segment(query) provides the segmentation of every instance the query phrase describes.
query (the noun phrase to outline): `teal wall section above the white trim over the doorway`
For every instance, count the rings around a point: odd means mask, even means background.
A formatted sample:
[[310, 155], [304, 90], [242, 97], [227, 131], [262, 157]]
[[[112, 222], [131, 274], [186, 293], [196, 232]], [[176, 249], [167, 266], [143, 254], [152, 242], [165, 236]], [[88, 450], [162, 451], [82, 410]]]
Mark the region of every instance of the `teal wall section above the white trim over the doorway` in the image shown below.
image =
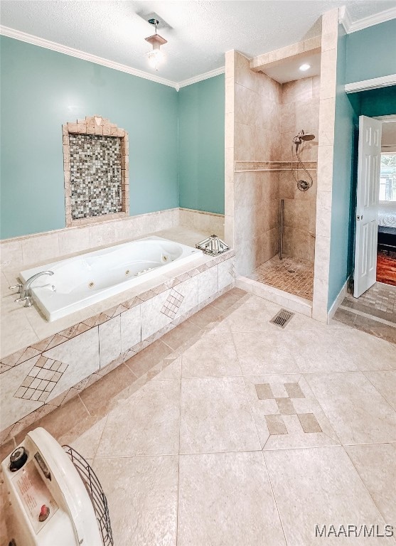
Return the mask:
[[396, 19], [348, 34], [346, 83], [396, 74]]

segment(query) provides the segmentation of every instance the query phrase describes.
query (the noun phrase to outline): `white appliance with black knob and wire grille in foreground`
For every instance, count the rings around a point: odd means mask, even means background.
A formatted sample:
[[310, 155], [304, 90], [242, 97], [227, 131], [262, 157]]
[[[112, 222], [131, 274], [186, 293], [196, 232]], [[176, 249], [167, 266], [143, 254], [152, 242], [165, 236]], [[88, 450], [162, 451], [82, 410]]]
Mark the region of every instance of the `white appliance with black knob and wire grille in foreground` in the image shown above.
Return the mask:
[[97, 476], [69, 446], [41, 427], [1, 463], [8, 493], [7, 543], [112, 546], [107, 501]]

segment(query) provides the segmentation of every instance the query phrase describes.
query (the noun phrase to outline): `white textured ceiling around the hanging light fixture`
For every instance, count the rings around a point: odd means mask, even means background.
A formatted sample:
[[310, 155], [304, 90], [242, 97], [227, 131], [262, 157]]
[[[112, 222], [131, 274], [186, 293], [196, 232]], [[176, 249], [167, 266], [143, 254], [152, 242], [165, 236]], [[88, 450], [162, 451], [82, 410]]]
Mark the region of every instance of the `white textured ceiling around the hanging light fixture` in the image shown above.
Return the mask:
[[[224, 53], [251, 58], [317, 32], [328, 9], [346, 5], [352, 21], [396, 6], [393, 0], [39, 1], [2, 0], [1, 24], [181, 82], [224, 65]], [[156, 13], [166, 62], [149, 68], [146, 19]]]

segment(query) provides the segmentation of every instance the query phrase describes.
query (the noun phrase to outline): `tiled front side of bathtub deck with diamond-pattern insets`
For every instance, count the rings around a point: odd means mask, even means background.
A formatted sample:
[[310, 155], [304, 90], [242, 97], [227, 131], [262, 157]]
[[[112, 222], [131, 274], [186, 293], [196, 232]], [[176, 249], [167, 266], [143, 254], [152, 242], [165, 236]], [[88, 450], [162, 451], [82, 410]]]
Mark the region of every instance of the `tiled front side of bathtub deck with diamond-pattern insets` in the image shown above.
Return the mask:
[[[36, 309], [18, 309], [33, 311], [31, 320], [36, 331], [41, 327], [41, 336], [1, 358], [3, 434], [13, 425], [26, 424], [26, 419], [35, 420], [46, 406], [51, 409], [68, 400], [232, 287], [232, 255], [229, 251], [199, 257], [116, 299], [90, 306], [84, 319], [67, 328], [63, 319], [46, 323]], [[77, 316], [82, 315], [70, 315], [70, 321]]]

